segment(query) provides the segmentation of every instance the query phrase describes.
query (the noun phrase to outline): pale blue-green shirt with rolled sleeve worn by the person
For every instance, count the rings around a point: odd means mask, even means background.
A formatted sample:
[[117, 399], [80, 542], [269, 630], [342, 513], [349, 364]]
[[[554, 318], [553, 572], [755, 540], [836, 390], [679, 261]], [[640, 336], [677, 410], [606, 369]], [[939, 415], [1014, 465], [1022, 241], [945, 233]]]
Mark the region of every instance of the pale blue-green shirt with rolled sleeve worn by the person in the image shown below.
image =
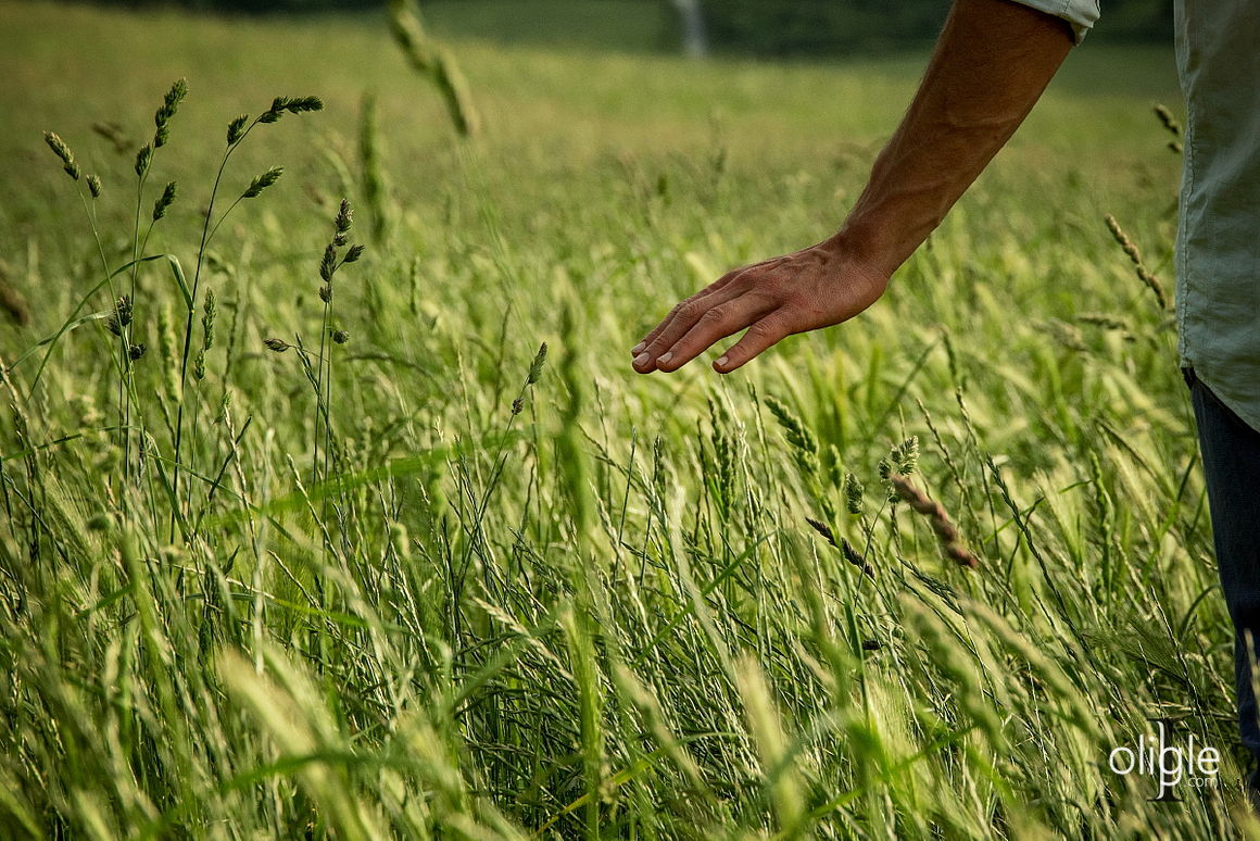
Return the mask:
[[[1097, 0], [1016, 0], [1076, 42]], [[1178, 357], [1260, 430], [1260, 4], [1176, 0], [1186, 142], [1177, 224]]]

